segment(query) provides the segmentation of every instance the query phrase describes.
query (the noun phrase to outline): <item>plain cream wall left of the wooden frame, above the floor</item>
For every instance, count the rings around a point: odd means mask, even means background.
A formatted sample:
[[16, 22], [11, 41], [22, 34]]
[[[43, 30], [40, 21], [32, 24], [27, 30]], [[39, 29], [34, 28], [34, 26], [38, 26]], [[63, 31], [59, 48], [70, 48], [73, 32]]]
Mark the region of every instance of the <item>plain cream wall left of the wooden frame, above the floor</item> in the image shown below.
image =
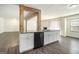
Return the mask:
[[19, 31], [19, 20], [16, 18], [0, 18], [0, 33]]

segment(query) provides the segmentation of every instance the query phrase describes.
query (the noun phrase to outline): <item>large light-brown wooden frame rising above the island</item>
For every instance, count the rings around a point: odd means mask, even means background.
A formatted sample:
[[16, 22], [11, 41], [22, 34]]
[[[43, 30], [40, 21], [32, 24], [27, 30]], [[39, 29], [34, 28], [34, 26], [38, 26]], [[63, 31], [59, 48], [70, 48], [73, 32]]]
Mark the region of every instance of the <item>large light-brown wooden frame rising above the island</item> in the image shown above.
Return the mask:
[[[27, 7], [24, 5], [19, 5], [19, 30], [20, 32], [24, 32], [24, 11], [30, 11], [34, 12], [34, 16], [37, 16], [37, 31], [41, 31], [41, 10], [32, 8], [32, 7]], [[27, 20], [26, 20], [27, 22]], [[27, 24], [26, 24], [26, 32], [27, 32]]]

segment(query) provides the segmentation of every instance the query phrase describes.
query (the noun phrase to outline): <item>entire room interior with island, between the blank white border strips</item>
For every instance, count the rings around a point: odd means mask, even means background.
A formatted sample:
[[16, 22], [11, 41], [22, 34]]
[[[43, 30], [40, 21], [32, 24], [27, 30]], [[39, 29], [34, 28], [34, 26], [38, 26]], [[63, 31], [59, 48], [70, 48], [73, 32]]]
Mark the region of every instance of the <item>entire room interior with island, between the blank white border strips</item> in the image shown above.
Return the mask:
[[0, 5], [0, 54], [78, 54], [78, 4]]

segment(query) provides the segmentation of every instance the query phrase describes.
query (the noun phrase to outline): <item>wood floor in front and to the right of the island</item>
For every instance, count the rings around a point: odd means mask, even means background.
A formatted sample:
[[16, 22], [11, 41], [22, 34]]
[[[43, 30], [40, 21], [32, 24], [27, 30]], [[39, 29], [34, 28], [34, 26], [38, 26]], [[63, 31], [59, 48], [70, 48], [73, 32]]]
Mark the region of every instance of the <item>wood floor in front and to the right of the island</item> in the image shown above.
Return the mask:
[[79, 54], [79, 39], [60, 37], [59, 42], [34, 49], [25, 54]]

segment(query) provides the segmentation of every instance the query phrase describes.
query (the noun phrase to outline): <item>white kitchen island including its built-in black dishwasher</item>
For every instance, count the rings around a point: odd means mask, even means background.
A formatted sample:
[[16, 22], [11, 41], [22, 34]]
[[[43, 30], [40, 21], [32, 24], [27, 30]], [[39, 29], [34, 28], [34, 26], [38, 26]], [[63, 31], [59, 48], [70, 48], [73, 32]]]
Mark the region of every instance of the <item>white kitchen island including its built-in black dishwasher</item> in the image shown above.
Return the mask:
[[23, 53], [58, 41], [59, 31], [25, 32], [20, 33], [19, 37], [19, 50], [20, 53]]

